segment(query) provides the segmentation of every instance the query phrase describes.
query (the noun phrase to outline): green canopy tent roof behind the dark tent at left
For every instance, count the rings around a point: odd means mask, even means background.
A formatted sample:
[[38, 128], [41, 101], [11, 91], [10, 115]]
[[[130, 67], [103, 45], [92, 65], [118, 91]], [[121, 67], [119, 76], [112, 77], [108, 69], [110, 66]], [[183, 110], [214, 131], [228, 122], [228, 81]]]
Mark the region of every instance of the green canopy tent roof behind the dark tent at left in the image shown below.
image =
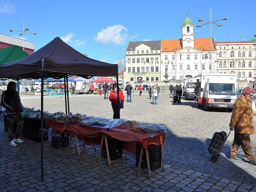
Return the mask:
[[28, 53], [17, 45], [0, 49], [0, 64], [9, 63], [27, 57]]

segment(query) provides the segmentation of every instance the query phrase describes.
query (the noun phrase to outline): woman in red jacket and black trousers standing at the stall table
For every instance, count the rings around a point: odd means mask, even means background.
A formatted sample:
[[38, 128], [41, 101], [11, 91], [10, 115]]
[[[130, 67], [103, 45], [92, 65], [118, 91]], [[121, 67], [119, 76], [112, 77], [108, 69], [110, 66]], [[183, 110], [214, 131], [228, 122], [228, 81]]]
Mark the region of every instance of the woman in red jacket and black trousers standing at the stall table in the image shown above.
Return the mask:
[[[114, 112], [113, 119], [118, 119], [118, 104], [120, 105], [122, 102], [124, 102], [124, 93], [119, 89], [119, 101], [117, 101], [117, 84], [115, 83], [112, 87], [112, 91], [109, 94], [109, 98], [111, 101], [112, 109]], [[120, 108], [119, 108], [120, 112]]]

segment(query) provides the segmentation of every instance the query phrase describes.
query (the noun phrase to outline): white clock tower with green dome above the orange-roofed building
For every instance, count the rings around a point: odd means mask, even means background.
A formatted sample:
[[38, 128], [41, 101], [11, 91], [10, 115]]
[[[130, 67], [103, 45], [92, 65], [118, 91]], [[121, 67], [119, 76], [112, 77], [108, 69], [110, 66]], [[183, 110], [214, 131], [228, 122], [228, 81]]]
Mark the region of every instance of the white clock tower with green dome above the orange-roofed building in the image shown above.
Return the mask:
[[188, 17], [185, 18], [185, 20], [182, 23], [181, 29], [182, 29], [182, 48], [185, 47], [192, 47], [194, 48], [194, 33], [193, 33], [194, 25], [191, 21], [191, 19]]

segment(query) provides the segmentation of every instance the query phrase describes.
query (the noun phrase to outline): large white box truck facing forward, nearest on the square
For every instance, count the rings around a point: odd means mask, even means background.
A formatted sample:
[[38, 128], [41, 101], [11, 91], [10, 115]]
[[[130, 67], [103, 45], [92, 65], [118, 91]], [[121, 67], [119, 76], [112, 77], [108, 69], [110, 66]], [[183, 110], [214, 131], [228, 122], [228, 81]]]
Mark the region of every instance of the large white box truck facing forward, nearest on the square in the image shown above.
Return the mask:
[[196, 100], [198, 106], [227, 108], [232, 111], [236, 102], [236, 74], [200, 73], [197, 75]]

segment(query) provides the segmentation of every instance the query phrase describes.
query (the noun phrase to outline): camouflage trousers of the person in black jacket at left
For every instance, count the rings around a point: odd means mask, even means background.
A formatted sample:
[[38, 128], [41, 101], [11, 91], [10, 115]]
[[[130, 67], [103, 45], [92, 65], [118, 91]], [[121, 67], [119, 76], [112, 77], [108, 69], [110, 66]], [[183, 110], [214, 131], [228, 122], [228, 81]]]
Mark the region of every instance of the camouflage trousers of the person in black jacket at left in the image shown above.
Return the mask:
[[14, 134], [14, 138], [18, 139], [20, 132], [22, 131], [23, 127], [24, 127], [24, 120], [23, 117], [20, 114], [8, 114], [7, 115], [7, 122], [8, 122], [8, 137], [9, 137], [9, 141], [13, 140], [13, 133], [12, 133], [12, 129], [13, 129], [13, 125], [16, 123], [17, 124], [17, 128], [16, 128], [16, 132]]

